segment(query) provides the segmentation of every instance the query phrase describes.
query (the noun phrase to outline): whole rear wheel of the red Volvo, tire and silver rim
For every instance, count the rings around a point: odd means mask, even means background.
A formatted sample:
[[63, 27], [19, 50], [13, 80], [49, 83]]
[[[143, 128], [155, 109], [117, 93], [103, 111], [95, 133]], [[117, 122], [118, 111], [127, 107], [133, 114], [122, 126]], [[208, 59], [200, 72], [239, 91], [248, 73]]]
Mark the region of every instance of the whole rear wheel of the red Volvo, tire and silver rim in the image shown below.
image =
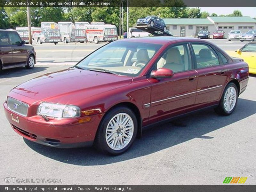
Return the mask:
[[236, 84], [229, 83], [220, 99], [220, 104], [215, 108], [215, 112], [219, 115], [230, 115], [236, 108], [238, 98], [238, 90]]

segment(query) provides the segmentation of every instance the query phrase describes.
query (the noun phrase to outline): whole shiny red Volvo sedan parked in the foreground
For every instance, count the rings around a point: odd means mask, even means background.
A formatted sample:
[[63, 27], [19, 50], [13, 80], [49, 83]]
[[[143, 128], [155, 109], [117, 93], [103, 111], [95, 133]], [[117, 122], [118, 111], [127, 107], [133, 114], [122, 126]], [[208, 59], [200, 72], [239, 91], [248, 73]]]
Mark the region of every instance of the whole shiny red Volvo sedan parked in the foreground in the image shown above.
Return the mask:
[[247, 82], [247, 63], [208, 41], [132, 38], [18, 85], [4, 109], [13, 130], [28, 140], [94, 145], [117, 155], [157, 122], [205, 107], [230, 115]]

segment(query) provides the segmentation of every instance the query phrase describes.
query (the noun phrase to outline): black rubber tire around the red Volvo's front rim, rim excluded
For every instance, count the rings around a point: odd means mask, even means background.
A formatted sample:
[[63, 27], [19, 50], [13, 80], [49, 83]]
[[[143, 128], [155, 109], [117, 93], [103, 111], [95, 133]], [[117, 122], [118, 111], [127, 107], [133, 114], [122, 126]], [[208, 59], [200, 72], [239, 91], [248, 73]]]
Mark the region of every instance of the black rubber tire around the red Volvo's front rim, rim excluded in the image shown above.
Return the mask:
[[[132, 137], [131, 137], [131, 140], [129, 141], [129, 143], [124, 148], [115, 150], [108, 146], [108, 143], [106, 141], [106, 130], [107, 130], [107, 126], [108, 126], [110, 120], [115, 115], [117, 115], [119, 113], [126, 113], [132, 118], [134, 129], [133, 129], [133, 134], [132, 134]], [[113, 108], [103, 117], [102, 121], [100, 122], [98, 132], [97, 132], [95, 142], [94, 142], [94, 147], [96, 147], [100, 151], [107, 153], [107, 154], [120, 155], [120, 154], [124, 153], [128, 148], [131, 147], [133, 141], [136, 138], [137, 130], [138, 130], [137, 118], [130, 108], [127, 108], [127, 107]]]

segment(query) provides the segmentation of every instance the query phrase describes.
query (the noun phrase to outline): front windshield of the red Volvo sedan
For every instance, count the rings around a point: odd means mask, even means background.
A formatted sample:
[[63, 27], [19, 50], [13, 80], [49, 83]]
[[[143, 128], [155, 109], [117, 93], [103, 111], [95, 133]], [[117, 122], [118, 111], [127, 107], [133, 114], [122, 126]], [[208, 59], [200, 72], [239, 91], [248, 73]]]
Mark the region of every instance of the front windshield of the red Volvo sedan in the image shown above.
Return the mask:
[[93, 52], [76, 67], [137, 76], [161, 46], [137, 42], [113, 42]]

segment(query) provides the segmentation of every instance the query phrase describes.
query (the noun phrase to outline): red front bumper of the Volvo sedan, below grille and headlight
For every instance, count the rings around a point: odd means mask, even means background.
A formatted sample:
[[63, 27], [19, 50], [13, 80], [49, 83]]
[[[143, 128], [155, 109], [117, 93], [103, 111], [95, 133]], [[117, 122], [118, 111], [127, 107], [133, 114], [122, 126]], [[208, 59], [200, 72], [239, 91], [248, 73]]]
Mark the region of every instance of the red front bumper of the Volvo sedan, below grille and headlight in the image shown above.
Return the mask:
[[36, 143], [57, 148], [91, 146], [103, 116], [98, 114], [79, 118], [50, 119], [47, 122], [40, 116], [24, 117], [15, 114], [7, 108], [6, 102], [4, 110], [16, 133]]

